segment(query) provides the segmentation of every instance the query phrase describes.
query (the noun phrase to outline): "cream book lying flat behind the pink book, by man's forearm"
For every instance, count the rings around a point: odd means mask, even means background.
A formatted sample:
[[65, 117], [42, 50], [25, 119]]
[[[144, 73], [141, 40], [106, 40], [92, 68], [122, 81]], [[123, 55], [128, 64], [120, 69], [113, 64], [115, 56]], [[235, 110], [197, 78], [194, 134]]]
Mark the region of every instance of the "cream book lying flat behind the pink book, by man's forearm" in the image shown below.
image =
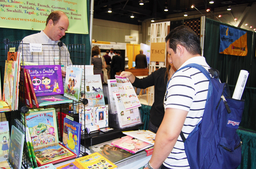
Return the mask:
[[123, 131], [123, 133], [149, 144], [155, 143], [156, 134], [148, 130]]

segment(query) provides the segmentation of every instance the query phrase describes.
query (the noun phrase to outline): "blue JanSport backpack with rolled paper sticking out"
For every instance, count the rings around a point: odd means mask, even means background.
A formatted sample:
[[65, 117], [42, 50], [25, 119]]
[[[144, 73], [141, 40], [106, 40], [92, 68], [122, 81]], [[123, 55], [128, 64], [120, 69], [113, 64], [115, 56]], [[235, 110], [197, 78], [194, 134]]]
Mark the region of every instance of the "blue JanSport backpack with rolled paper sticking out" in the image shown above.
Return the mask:
[[[191, 169], [235, 169], [241, 163], [241, 140], [236, 134], [244, 110], [244, 100], [230, 98], [227, 83], [220, 83], [218, 70], [188, 64], [209, 80], [202, 120], [186, 139], [181, 131]], [[180, 69], [180, 70], [181, 70]]]

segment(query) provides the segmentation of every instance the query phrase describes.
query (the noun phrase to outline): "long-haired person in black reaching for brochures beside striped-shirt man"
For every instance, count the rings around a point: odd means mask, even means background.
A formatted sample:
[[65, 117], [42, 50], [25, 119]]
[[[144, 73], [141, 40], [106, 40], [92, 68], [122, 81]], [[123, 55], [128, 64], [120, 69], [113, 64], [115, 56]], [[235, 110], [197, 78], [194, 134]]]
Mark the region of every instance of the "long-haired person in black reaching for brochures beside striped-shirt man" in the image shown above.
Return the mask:
[[164, 94], [166, 91], [166, 85], [168, 80], [172, 77], [176, 71], [168, 57], [168, 65], [165, 68], [160, 68], [152, 72], [147, 77], [139, 79], [135, 77], [131, 72], [123, 71], [120, 76], [128, 77], [133, 86], [142, 89], [146, 89], [150, 86], [155, 86], [154, 103], [150, 109], [150, 120], [148, 124], [148, 130], [156, 133], [161, 122], [164, 118]]

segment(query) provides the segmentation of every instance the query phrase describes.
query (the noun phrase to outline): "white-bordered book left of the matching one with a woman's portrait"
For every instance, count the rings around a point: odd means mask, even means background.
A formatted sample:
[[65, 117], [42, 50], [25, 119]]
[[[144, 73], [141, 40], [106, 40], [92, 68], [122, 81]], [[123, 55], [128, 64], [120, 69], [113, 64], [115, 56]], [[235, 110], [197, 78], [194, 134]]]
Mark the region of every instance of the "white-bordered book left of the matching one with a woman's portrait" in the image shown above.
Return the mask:
[[83, 132], [86, 127], [94, 125], [93, 107], [79, 109], [79, 123], [82, 124]]

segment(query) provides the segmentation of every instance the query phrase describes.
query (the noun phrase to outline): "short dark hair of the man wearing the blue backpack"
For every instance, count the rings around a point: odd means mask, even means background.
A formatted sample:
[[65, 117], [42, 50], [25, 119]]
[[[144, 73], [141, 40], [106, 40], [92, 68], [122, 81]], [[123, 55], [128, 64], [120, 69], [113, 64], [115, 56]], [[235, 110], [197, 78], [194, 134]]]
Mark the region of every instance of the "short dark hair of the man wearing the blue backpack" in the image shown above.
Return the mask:
[[165, 42], [169, 40], [169, 48], [176, 53], [177, 45], [185, 47], [189, 54], [201, 55], [201, 43], [198, 35], [188, 26], [178, 26], [166, 36]]

